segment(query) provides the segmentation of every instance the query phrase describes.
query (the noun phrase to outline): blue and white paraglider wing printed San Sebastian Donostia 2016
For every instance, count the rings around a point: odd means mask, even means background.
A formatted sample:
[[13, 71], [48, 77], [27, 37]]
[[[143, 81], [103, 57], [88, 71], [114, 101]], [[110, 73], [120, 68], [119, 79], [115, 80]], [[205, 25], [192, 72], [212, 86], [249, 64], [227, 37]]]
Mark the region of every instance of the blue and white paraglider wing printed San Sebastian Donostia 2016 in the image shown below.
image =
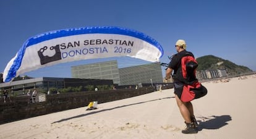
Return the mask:
[[62, 62], [129, 56], [158, 62], [161, 45], [141, 32], [121, 27], [85, 27], [36, 35], [23, 44], [4, 70], [4, 82], [31, 70]]

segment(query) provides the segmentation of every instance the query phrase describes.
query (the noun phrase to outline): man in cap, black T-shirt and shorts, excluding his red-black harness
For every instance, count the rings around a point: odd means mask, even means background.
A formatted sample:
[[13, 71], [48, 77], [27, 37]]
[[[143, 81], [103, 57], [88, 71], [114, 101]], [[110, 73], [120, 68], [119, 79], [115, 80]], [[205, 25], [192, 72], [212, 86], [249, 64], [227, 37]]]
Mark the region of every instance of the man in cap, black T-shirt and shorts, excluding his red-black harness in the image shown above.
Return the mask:
[[197, 133], [198, 124], [197, 120], [195, 120], [193, 105], [190, 101], [181, 101], [181, 94], [184, 86], [184, 82], [182, 82], [181, 59], [183, 56], [185, 56], [185, 54], [190, 54], [190, 56], [194, 57], [192, 53], [186, 51], [186, 46], [186, 41], [177, 40], [175, 45], [177, 54], [174, 54], [171, 62], [169, 62], [168, 69], [166, 69], [165, 80], [171, 78], [171, 74], [174, 71], [174, 94], [179, 111], [181, 112], [181, 115], [185, 120], [185, 124], [187, 125], [187, 128], [182, 130], [182, 133]]

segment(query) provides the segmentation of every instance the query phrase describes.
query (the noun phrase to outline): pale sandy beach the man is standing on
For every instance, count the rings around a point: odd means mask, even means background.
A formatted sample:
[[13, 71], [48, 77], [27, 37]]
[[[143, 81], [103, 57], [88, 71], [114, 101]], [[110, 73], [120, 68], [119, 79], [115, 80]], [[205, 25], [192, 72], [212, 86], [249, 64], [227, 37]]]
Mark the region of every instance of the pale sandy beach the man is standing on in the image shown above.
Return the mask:
[[2, 124], [0, 138], [255, 138], [255, 76], [203, 85], [207, 96], [192, 101], [197, 134], [181, 133], [184, 120], [169, 89]]

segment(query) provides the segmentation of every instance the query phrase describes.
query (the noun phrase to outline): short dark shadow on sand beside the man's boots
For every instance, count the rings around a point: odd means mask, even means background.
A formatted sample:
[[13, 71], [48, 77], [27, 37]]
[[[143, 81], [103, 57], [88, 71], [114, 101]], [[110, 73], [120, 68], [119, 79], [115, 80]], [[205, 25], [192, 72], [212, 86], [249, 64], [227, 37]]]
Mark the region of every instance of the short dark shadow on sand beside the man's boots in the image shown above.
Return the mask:
[[[199, 120], [201, 119], [201, 120]], [[203, 129], [218, 129], [228, 125], [228, 121], [232, 120], [231, 116], [210, 116], [210, 117], [197, 117], [197, 122], [199, 122], [198, 130]]]

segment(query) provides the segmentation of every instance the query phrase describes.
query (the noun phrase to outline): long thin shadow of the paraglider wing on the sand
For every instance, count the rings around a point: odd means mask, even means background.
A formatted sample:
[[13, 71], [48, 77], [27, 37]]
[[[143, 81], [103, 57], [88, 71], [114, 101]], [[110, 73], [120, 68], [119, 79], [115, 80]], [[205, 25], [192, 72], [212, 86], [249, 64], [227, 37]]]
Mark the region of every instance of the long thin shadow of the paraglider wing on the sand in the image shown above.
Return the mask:
[[121, 108], [121, 107], [127, 107], [127, 106], [136, 105], [136, 104], [148, 103], [148, 102], [151, 102], [151, 101], [158, 101], [158, 100], [161, 100], [161, 99], [169, 99], [169, 98], [175, 98], [175, 97], [153, 99], [153, 100], [150, 100], [150, 101], [143, 101], [143, 102], [140, 102], [140, 103], [127, 104], [127, 105], [123, 105], [123, 106], [112, 107], [112, 108], [109, 108], [109, 109], [102, 109], [100, 111], [93, 111], [93, 112], [89, 112], [87, 114], [80, 114], [79, 116], [74, 116], [74, 117], [69, 117], [69, 118], [66, 118], [66, 119], [61, 119], [61, 120], [58, 120], [58, 121], [53, 122], [51, 124], [58, 123], [58, 122], [63, 122], [63, 121], [66, 121], [66, 120], [75, 119], [75, 118], [79, 118], [79, 117], [83, 117], [83, 116], [89, 116], [91, 114], [96, 114], [96, 113], [99, 113], [99, 112], [110, 111], [110, 110], [118, 109], [118, 108]]

